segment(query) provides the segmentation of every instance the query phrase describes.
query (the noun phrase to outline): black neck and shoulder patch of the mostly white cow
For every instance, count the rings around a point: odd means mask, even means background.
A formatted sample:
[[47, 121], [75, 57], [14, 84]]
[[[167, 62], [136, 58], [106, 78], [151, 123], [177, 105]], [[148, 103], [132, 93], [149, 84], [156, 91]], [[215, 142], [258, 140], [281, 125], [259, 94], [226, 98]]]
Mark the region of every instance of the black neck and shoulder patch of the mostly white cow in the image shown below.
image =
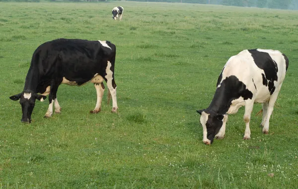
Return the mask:
[[232, 100], [238, 99], [240, 96], [244, 100], [252, 99], [252, 92], [246, 89], [246, 85], [239, 81], [236, 76], [226, 77], [221, 86], [215, 91], [214, 97], [207, 110], [213, 110], [218, 114], [224, 115], [230, 107]]

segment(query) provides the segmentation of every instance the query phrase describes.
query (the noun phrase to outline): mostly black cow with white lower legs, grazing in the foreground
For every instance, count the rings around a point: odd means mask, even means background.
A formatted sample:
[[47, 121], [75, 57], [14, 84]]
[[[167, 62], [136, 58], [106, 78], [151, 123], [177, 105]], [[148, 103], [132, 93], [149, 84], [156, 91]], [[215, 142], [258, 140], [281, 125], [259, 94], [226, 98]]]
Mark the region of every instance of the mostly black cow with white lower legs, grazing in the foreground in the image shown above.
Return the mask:
[[60, 84], [81, 86], [87, 82], [93, 83], [97, 102], [90, 113], [97, 113], [101, 108], [104, 92], [102, 82], [105, 80], [113, 100], [112, 112], [117, 112], [115, 56], [116, 47], [108, 41], [57, 39], [37, 47], [32, 55], [23, 92], [10, 96], [12, 100], [20, 99], [23, 113], [21, 122], [31, 122], [35, 100], [43, 101], [48, 94], [50, 105], [45, 117], [52, 116], [53, 103], [55, 112], [60, 113], [56, 96]]

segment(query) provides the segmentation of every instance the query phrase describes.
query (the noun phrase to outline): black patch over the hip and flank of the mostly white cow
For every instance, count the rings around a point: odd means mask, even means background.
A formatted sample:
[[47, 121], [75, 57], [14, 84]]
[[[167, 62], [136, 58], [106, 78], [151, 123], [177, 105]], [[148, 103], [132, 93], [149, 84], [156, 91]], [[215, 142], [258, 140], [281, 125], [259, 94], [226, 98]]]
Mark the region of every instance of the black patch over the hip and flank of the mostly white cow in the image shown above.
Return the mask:
[[[270, 94], [273, 94], [275, 91], [274, 81], [277, 81], [278, 79], [277, 63], [272, 59], [268, 52], [260, 52], [257, 49], [250, 49], [248, 51], [249, 53], [251, 53], [251, 56], [253, 57], [255, 64], [260, 69], [264, 70], [265, 76], [262, 74], [263, 85], [268, 86]], [[268, 80], [268, 83], [264, 80]]]

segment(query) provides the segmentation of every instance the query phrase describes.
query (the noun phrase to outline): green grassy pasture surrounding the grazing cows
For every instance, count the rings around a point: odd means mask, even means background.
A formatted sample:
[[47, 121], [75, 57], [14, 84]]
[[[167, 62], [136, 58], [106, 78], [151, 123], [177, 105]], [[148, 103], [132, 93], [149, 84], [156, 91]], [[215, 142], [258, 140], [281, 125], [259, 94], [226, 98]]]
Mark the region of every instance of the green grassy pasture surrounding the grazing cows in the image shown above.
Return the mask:
[[[122, 21], [112, 8], [123, 6]], [[181, 3], [0, 2], [0, 189], [298, 186], [298, 11]], [[117, 47], [119, 113], [92, 84], [61, 85], [61, 114], [31, 124], [9, 96], [23, 90], [33, 51], [57, 38], [109, 40]], [[243, 49], [278, 49], [290, 65], [263, 135], [255, 104], [251, 140], [243, 108], [224, 140], [202, 142], [207, 108], [227, 59]], [[270, 177], [268, 174], [273, 173]], [[272, 176], [272, 175], [271, 175]]]

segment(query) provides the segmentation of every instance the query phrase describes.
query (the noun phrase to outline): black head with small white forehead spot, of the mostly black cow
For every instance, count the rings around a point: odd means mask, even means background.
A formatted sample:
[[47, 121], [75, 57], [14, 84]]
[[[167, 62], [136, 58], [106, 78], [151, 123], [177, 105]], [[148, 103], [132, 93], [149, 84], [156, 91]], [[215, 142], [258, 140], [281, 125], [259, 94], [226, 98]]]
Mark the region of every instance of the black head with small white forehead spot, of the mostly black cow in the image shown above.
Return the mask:
[[33, 108], [35, 106], [35, 100], [38, 99], [43, 101], [47, 96], [36, 94], [33, 91], [25, 90], [20, 94], [15, 94], [10, 96], [9, 98], [12, 100], [20, 99], [20, 104], [22, 106], [22, 119], [23, 123], [31, 123], [31, 114], [33, 112]]

